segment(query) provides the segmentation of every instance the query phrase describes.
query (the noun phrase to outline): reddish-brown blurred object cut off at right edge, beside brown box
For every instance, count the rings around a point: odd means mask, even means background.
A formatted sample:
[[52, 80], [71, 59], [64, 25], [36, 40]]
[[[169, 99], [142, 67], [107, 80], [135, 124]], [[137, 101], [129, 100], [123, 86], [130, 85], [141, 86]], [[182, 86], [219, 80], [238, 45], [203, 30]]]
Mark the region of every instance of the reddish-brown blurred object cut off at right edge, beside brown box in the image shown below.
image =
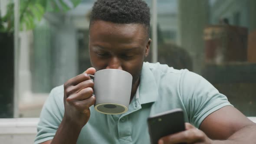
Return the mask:
[[248, 62], [256, 62], [256, 30], [249, 34], [247, 57]]

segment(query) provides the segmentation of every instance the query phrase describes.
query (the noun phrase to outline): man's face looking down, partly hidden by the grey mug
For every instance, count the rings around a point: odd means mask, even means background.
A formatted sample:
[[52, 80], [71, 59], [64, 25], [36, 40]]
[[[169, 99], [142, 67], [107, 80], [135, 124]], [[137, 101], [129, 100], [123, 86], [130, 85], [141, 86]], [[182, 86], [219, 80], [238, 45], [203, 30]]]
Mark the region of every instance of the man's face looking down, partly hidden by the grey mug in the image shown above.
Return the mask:
[[95, 21], [90, 27], [89, 53], [92, 66], [121, 69], [138, 82], [144, 57], [148, 56], [151, 39], [141, 24], [117, 24]]

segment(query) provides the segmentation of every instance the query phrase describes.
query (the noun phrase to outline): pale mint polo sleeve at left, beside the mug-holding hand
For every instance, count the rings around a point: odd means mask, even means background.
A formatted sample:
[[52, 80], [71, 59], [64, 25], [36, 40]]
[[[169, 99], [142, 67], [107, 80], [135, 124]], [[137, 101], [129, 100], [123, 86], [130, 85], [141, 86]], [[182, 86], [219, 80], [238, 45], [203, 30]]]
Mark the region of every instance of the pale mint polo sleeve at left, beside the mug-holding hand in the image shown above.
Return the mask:
[[43, 105], [34, 144], [52, 140], [64, 114], [63, 85], [53, 88]]

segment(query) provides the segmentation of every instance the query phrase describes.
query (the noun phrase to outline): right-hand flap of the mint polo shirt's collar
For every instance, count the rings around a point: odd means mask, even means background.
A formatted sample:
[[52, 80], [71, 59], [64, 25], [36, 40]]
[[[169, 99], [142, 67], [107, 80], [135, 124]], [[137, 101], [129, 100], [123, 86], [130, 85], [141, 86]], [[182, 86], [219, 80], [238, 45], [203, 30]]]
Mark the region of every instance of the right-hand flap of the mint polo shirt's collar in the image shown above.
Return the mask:
[[158, 97], [158, 88], [148, 62], [144, 62], [139, 85], [139, 100], [141, 104], [154, 102]]

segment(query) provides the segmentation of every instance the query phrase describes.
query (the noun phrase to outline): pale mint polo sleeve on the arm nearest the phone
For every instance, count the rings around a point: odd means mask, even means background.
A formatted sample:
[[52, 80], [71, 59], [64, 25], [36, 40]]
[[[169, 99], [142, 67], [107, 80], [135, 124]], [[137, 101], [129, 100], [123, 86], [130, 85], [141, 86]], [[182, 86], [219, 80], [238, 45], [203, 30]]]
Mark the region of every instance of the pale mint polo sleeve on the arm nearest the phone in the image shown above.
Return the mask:
[[224, 106], [231, 105], [226, 96], [214, 88], [210, 82], [188, 70], [182, 72], [180, 94], [189, 122], [197, 128], [208, 115]]

